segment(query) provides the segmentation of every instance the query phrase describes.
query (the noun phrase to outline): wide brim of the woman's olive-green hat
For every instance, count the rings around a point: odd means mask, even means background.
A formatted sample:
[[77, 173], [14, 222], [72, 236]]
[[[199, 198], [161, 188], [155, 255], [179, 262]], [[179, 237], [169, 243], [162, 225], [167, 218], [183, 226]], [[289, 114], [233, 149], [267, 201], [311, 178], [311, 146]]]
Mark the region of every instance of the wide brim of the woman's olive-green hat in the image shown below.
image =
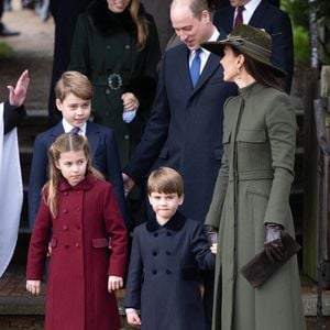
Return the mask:
[[202, 43], [200, 46], [220, 57], [223, 57], [223, 55], [224, 55], [223, 50], [224, 50], [226, 45], [233, 46], [233, 47], [238, 48], [240, 52], [242, 52], [242, 54], [248, 55], [252, 59], [268, 66], [271, 69], [273, 69], [273, 72], [276, 76], [278, 76], [278, 77], [287, 76], [287, 73], [285, 70], [275, 66], [273, 63], [271, 63], [271, 61], [267, 61], [264, 57], [260, 57], [255, 53], [249, 52], [249, 48], [242, 46], [241, 43], [238, 43], [237, 41], [233, 41], [231, 38], [223, 38], [223, 40], [216, 41], [216, 42], [206, 42], [206, 43]]

